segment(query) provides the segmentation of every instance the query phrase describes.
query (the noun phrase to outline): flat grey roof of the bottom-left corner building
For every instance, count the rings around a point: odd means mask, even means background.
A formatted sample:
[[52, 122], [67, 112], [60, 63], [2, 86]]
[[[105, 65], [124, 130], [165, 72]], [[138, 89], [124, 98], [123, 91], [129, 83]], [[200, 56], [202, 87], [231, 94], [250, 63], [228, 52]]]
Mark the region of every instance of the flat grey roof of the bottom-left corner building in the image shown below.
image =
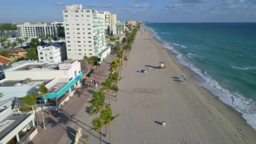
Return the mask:
[[0, 139], [3, 139], [8, 133], [16, 128], [21, 122], [29, 117], [29, 113], [15, 113], [6, 117], [0, 122]]

